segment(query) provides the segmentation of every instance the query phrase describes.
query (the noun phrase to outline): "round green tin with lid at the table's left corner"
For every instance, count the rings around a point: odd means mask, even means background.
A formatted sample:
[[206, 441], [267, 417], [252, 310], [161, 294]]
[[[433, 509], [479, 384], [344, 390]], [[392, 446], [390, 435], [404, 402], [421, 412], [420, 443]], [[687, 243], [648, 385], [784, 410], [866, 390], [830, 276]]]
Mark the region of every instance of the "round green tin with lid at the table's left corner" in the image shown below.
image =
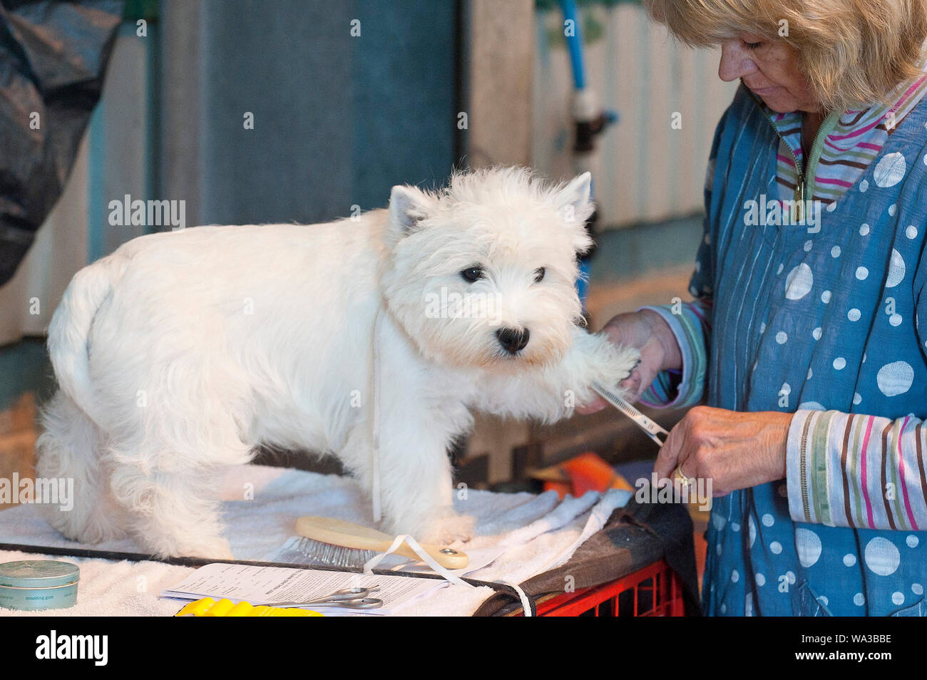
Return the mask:
[[0, 607], [11, 610], [60, 610], [77, 602], [81, 570], [55, 560], [0, 563]]

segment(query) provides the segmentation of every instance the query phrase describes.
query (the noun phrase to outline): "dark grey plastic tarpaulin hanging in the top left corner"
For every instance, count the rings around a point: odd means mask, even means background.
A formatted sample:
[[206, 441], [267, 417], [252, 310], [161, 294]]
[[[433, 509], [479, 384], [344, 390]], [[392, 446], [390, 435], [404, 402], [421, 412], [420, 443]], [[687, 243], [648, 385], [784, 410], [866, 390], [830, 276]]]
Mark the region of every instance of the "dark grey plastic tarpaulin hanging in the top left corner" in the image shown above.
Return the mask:
[[64, 189], [122, 0], [0, 0], [0, 285]]

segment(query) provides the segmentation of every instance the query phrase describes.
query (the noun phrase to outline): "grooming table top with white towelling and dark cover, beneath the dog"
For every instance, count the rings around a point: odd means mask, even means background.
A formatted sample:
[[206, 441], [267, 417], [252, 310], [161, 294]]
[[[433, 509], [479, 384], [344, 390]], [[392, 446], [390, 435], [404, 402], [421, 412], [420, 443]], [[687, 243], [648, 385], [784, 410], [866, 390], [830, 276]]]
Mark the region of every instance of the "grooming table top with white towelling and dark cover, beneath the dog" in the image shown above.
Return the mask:
[[[321, 515], [370, 524], [369, 502], [348, 477], [262, 465], [228, 469], [222, 476], [226, 535], [237, 560], [269, 560], [293, 533], [301, 515]], [[248, 498], [248, 499], [246, 499]], [[627, 502], [629, 501], [629, 502]], [[694, 590], [692, 523], [677, 505], [640, 506], [629, 492], [590, 492], [561, 500], [553, 492], [495, 494], [468, 490], [455, 508], [476, 518], [476, 535], [463, 546], [471, 551], [504, 542], [502, 555], [468, 579], [520, 584], [533, 599], [561, 594], [567, 586], [580, 594], [593, 586], [666, 559], [681, 576], [690, 604]], [[93, 549], [138, 555], [132, 539], [83, 545], [68, 541], [42, 519], [38, 508], [23, 505], [0, 511], [0, 541], [64, 550]], [[688, 539], [688, 540], [687, 540]], [[56, 550], [57, 551], [57, 550]], [[143, 560], [103, 560], [0, 549], [0, 561], [69, 560], [81, 567], [78, 603], [69, 610], [0, 615], [170, 616], [177, 601], [159, 599], [193, 567]], [[692, 564], [687, 564], [687, 556]], [[567, 581], [567, 577], [571, 581]], [[507, 592], [506, 592], [507, 591]], [[511, 589], [449, 586], [415, 600], [397, 615], [493, 615], [520, 611]]]

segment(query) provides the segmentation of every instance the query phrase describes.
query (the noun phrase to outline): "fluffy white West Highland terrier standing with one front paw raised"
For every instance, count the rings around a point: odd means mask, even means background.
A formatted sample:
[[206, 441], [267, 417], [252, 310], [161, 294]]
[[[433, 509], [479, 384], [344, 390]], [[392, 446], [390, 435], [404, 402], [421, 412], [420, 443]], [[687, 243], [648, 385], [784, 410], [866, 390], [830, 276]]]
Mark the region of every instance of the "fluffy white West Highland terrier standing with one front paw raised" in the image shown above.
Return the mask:
[[470, 410], [552, 422], [638, 358], [577, 325], [592, 208], [588, 173], [551, 187], [496, 168], [327, 224], [121, 246], [74, 276], [49, 328], [60, 389], [38, 472], [75, 480], [50, 521], [230, 558], [217, 469], [268, 445], [337, 456], [378, 488], [389, 532], [464, 534], [448, 447]]

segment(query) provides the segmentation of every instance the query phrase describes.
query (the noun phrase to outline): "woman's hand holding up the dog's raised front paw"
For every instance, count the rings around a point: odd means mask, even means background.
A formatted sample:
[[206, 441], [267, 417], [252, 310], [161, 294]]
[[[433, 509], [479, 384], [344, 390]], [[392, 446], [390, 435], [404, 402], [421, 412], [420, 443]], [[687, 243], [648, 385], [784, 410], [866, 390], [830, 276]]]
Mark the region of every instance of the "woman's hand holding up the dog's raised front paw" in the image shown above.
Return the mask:
[[[652, 309], [618, 314], [605, 324], [602, 332], [608, 334], [615, 345], [641, 350], [641, 363], [618, 384], [619, 387], [630, 390], [628, 400], [631, 402], [641, 398], [641, 394], [654, 382], [658, 372], [682, 368], [682, 354], [679, 352], [679, 343], [676, 342], [672, 329], [663, 317]], [[596, 397], [589, 404], [577, 407], [577, 410], [580, 413], [594, 413], [605, 406], [605, 400]]]

